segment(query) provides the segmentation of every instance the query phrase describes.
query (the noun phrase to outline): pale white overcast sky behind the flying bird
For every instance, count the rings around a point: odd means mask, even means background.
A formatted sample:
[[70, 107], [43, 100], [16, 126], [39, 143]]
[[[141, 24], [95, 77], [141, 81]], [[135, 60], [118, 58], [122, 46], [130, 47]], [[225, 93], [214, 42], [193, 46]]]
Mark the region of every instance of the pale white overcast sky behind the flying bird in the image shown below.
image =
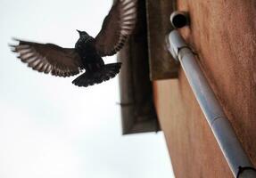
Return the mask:
[[[95, 36], [111, 0], [0, 1], [0, 177], [170, 178], [163, 134], [121, 135], [118, 77], [78, 88], [15, 58], [20, 37], [65, 47]], [[115, 61], [115, 56], [104, 59]]]

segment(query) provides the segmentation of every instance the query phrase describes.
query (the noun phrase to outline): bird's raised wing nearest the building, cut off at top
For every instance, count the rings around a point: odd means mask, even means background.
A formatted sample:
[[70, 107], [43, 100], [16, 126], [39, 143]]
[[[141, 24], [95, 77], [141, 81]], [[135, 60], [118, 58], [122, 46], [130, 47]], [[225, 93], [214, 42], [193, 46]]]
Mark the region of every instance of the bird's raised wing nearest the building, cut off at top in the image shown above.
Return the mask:
[[136, 25], [136, 0], [115, 0], [103, 20], [103, 27], [95, 37], [95, 46], [101, 56], [120, 51]]

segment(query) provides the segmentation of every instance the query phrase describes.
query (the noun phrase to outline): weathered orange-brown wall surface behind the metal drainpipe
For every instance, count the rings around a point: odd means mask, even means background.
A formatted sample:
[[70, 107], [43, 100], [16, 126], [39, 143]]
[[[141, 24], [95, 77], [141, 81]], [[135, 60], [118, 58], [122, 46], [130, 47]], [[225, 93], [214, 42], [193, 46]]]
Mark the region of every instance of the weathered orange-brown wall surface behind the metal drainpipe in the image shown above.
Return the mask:
[[[178, 0], [178, 10], [190, 13], [182, 35], [256, 166], [256, 2]], [[233, 177], [183, 71], [154, 82], [154, 94], [176, 176]]]

